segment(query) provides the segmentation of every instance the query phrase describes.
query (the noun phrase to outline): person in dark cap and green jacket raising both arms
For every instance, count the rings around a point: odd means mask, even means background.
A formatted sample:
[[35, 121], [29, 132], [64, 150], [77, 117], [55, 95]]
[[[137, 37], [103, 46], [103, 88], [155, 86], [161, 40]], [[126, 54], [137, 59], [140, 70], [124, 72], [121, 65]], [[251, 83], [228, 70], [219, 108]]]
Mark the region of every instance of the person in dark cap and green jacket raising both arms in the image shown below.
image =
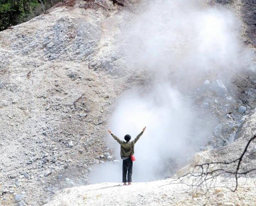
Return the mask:
[[122, 141], [117, 136], [113, 135], [111, 130], [108, 130], [111, 136], [120, 144], [120, 155], [121, 159], [123, 160], [123, 185], [126, 185], [127, 182], [128, 185], [132, 184], [132, 168], [133, 161], [135, 161], [135, 158], [133, 156], [134, 144], [139, 140], [140, 136], [142, 136], [145, 129], [146, 127], [143, 128], [142, 132], [140, 132], [139, 135], [133, 141], [130, 141], [130, 135], [124, 136], [125, 141]]

